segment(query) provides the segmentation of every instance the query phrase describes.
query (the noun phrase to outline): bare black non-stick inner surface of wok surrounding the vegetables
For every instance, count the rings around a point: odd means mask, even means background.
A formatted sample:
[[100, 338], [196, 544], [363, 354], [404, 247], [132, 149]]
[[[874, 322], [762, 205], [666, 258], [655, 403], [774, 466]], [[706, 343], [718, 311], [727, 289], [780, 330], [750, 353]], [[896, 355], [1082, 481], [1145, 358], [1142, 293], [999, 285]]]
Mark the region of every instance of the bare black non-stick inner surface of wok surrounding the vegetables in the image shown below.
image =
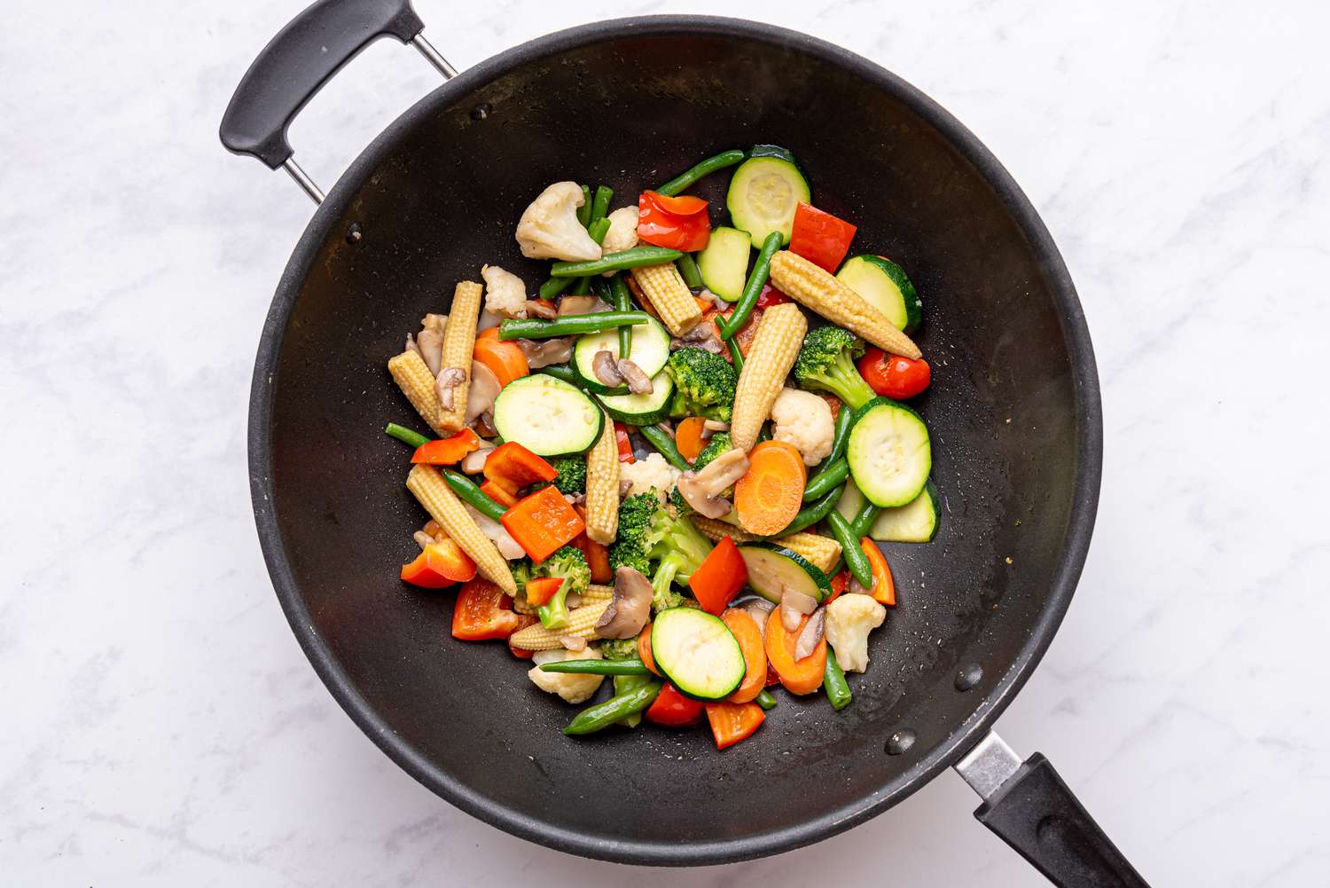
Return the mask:
[[[563, 847], [682, 860], [688, 843], [770, 839], [818, 819], [817, 832], [833, 831], [916, 781], [928, 754], [1023, 662], [1047, 603], [1079, 459], [1056, 272], [1040, 266], [983, 173], [884, 89], [884, 75], [871, 81], [845, 67], [847, 55], [721, 33], [555, 49], [492, 67], [499, 76], [473, 92], [467, 79], [483, 72], [463, 75], [452, 88], [467, 95], [410, 112], [363, 184], [364, 169], [343, 182], [358, 190], [313, 245], [303, 282], [291, 280], [270, 507], [289, 587], [310, 615], [297, 631], [314, 650], [327, 646], [382, 720], [376, 742], [528, 836], [539, 821], [571, 831]], [[382, 429], [422, 422], [384, 362], [422, 314], [448, 310], [456, 281], [479, 280], [481, 264], [517, 272], [528, 288], [544, 280], [548, 266], [521, 258], [513, 228], [549, 182], [612, 185], [620, 206], [700, 157], [754, 142], [791, 149], [817, 205], [859, 226], [855, 250], [891, 257], [922, 294], [916, 339], [934, 382], [918, 406], [932, 434], [942, 533], [927, 546], [887, 546], [898, 604], [872, 635], [867, 674], [851, 676], [843, 712], [821, 695], [779, 694], [758, 734], [724, 754], [705, 728], [568, 739], [560, 728], [573, 710], [536, 690], [501, 642], [450, 636], [452, 592], [396, 579], [426, 515], [403, 486], [408, 450]], [[720, 210], [728, 181], [713, 176], [697, 193]], [[303, 262], [299, 250], [293, 261]], [[972, 664], [983, 678], [958, 691], [958, 668]], [[898, 731], [918, 739], [887, 755]], [[531, 820], [515, 827], [523, 815]], [[592, 844], [569, 844], [573, 833]]]

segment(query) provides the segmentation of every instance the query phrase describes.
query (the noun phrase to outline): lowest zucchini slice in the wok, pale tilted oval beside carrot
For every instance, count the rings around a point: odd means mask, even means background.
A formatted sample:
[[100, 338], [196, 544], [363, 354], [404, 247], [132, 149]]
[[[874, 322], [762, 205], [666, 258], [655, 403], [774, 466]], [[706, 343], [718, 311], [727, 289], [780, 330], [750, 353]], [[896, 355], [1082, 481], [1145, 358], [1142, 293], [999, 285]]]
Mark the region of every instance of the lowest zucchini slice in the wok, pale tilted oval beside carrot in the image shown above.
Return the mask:
[[743, 682], [743, 650], [721, 618], [696, 607], [670, 607], [652, 622], [652, 658], [697, 700], [724, 700]]

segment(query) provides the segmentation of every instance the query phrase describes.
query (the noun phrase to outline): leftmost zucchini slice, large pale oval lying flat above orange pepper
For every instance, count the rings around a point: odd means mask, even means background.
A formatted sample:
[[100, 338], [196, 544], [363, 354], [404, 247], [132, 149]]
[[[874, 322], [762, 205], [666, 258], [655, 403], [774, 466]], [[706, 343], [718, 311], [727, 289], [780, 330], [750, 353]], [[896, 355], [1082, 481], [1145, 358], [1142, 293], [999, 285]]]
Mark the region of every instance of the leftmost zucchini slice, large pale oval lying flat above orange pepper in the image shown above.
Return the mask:
[[544, 373], [513, 379], [495, 398], [495, 430], [540, 457], [591, 450], [605, 414], [576, 386]]

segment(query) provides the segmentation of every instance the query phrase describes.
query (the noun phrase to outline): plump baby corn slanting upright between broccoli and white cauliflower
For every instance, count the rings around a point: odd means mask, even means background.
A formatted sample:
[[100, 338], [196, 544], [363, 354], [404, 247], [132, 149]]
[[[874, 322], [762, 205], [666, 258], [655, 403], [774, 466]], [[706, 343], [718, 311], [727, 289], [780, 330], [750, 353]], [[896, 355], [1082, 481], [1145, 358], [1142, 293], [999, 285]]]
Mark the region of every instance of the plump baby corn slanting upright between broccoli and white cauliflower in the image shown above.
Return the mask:
[[730, 419], [730, 443], [743, 453], [757, 443], [762, 423], [785, 386], [785, 377], [794, 366], [807, 330], [809, 322], [793, 302], [773, 305], [758, 320], [753, 345], [734, 390], [734, 415]]

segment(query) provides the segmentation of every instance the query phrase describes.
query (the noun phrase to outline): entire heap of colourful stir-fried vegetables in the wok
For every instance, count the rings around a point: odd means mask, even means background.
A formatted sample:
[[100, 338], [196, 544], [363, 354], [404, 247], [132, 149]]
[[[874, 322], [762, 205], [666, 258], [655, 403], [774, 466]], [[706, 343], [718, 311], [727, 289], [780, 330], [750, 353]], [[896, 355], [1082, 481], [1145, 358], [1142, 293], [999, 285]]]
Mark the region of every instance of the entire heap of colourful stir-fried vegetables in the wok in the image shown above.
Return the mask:
[[[686, 193], [730, 169], [725, 206]], [[532, 687], [608, 688], [564, 734], [705, 723], [724, 750], [769, 687], [851, 704], [896, 600], [878, 542], [938, 533], [902, 403], [931, 382], [923, 306], [891, 260], [846, 258], [857, 226], [783, 148], [613, 202], [545, 188], [515, 236], [552, 262], [476, 269], [388, 359], [435, 434], [386, 429], [430, 515], [399, 575], [456, 587], [454, 638], [505, 639]]]

